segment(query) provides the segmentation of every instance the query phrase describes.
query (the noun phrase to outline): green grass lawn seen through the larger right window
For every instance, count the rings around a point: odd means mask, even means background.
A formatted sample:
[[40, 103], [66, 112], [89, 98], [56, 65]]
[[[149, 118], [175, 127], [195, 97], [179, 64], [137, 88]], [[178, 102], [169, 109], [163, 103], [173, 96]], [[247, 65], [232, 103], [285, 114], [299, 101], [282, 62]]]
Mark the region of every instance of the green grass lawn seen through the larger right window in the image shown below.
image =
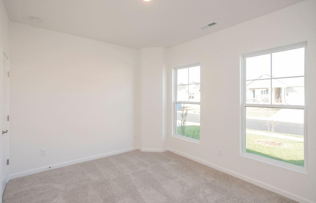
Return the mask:
[[246, 152], [304, 167], [304, 142], [247, 134]]

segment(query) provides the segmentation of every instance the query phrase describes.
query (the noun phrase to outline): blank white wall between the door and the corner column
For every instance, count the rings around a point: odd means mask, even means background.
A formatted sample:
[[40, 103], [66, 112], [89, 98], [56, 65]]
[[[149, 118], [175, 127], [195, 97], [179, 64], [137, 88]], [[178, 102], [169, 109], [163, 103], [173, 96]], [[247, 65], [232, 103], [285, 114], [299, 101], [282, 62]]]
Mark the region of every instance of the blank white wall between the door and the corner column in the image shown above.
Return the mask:
[[10, 37], [11, 177], [136, 146], [136, 49], [14, 22]]

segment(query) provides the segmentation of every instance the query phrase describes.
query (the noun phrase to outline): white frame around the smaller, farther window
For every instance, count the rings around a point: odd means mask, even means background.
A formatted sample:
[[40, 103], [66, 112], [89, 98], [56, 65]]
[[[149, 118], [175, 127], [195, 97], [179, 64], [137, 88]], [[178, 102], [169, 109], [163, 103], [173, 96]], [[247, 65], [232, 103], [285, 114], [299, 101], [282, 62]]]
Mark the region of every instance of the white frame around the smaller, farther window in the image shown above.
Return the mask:
[[[178, 135], [176, 134], [176, 128], [177, 128], [177, 104], [178, 103], [185, 103], [185, 104], [198, 104], [201, 106], [200, 102], [184, 102], [184, 101], [178, 101], [177, 98], [178, 98], [178, 90], [177, 90], [177, 87], [178, 87], [178, 81], [177, 81], [177, 70], [179, 69], [184, 69], [184, 68], [192, 68], [192, 67], [197, 67], [199, 66], [200, 70], [201, 70], [201, 66], [200, 66], [200, 63], [195, 63], [195, 64], [190, 64], [190, 65], [186, 65], [186, 66], [180, 66], [180, 67], [176, 67], [176, 68], [172, 68], [173, 69], [173, 91], [172, 91], [172, 98], [173, 98], [173, 102], [172, 102], [172, 112], [173, 112], [173, 115], [172, 115], [172, 136], [173, 137], [176, 137], [176, 138], [179, 138], [179, 139], [183, 139], [183, 140], [187, 140], [187, 141], [190, 141], [190, 142], [193, 142], [193, 143], [197, 143], [199, 144], [200, 143], [200, 139], [194, 139], [194, 138], [191, 138], [191, 137], [186, 137], [186, 136], [183, 136], [183, 135]], [[188, 73], [189, 75], [189, 73]], [[199, 85], [201, 84], [201, 82], [199, 83]], [[189, 85], [189, 84], [188, 84]], [[188, 100], [189, 100], [189, 92], [188, 92]]]

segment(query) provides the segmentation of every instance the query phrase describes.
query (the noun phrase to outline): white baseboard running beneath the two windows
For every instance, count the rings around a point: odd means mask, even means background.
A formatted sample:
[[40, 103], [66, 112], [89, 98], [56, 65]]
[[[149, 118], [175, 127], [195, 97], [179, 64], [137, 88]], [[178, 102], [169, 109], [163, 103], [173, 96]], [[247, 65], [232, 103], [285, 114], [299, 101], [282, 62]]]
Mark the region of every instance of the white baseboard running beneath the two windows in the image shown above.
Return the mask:
[[203, 164], [203, 165], [205, 165], [205, 166], [208, 166], [208, 167], [210, 167], [210, 168], [217, 169], [217, 170], [222, 171], [222, 172], [224, 172], [224, 173], [230, 174], [230, 175], [235, 176], [235, 177], [237, 177], [237, 178], [239, 178], [239, 179], [241, 179], [241, 180], [244, 180], [244, 181], [246, 181], [246, 182], [252, 183], [252, 184], [257, 185], [257, 186], [259, 186], [259, 187], [265, 188], [265, 189], [267, 189], [267, 190], [270, 190], [270, 191], [272, 191], [272, 192], [275, 192], [275, 193], [277, 193], [277, 194], [279, 194], [279, 195], [282, 195], [282, 196], [287, 197], [287, 198], [289, 198], [289, 199], [295, 200], [295, 201], [297, 201], [297, 202], [300, 202], [300, 203], [315, 203], [315, 202], [313, 202], [312, 200], [308, 200], [308, 199], [306, 199], [306, 198], [297, 196], [297, 195], [295, 195], [295, 194], [293, 194], [293, 193], [290, 193], [290, 192], [288, 192], [288, 191], [282, 190], [282, 189], [277, 188], [277, 187], [275, 187], [275, 186], [272, 186], [272, 185], [269, 185], [269, 184], [267, 184], [267, 183], [261, 182], [261, 181], [259, 181], [259, 180], [250, 178], [250, 177], [248, 177], [248, 176], [246, 176], [246, 175], [242, 175], [242, 174], [240, 174], [240, 173], [234, 172], [234, 171], [232, 171], [232, 170], [225, 169], [225, 168], [222, 168], [222, 167], [220, 167], [220, 166], [211, 164], [211, 163], [209, 163], [209, 162], [203, 161], [203, 160], [198, 159], [198, 158], [196, 158], [196, 157], [193, 157], [193, 156], [191, 156], [191, 155], [188, 155], [188, 154], [185, 154], [185, 153], [182, 153], [182, 152], [179, 152], [179, 151], [177, 151], [177, 150], [170, 149], [170, 148], [167, 148], [167, 150], [170, 151], [170, 152], [173, 152], [173, 153], [175, 153], [175, 154], [178, 154], [178, 155], [180, 155], [180, 156], [183, 156], [183, 157], [186, 157], [186, 158], [188, 158], [188, 159], [191, 159], [191, 160], [193, 160], [193, 161], [196, 161], [196, 162], [198, 162], [198, 163], [200, 163], [200, 164]]

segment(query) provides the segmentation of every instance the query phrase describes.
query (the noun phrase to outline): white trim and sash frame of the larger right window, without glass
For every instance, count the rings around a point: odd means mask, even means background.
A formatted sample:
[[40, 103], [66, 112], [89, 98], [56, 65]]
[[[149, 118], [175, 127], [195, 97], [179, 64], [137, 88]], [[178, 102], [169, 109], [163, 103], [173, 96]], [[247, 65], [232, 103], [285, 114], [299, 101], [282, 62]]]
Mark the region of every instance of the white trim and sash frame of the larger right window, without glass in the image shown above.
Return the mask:
[[[264, 54], [271, 54], [275, 52], [287, 51], [296, 48], [305, 47], [305, 63], [304, 63], [304, 105], [284, 105], [284, 104], [252, 104], [246, 103], [246, 58], [260, 56]], [[308, 157], [307, 157], [307, 42], [296, 43], [288, 46], [277, 47], [259, 52], [252, 52], [240, 56], [240, 156], [250, 158], [256, 161], [268, 163], [277, 167], [294, 170], [297, 172], [307, 174]], [[295, 76], [294, 76], [295, 77]], [[272, 92], [272, 91], [271, 91]], [[269, 94], [272, 94], [269, 92]], [[262, 157], [245, 152], [246, 139], [245, 139], [245, 107], [276, 107], [276, 108], [291, 108], [304, 110], [304, 167], [295, 166], [285, 162], [277, 161], [274, 159]]]

